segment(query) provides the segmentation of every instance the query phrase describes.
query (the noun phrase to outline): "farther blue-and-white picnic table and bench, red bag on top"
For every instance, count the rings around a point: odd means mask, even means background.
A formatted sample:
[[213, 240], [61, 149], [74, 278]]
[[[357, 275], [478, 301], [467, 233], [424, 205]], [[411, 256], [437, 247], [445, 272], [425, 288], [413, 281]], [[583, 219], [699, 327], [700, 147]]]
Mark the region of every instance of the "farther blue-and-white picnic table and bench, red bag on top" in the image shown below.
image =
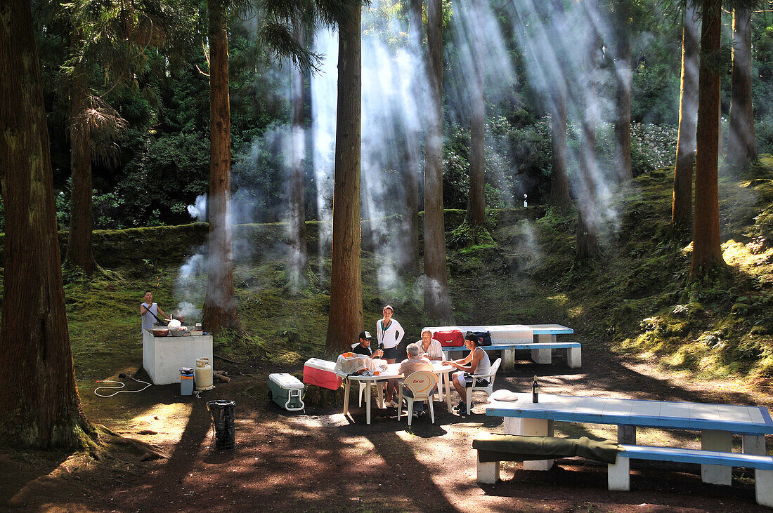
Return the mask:
[[[502, 351], [502, 367], [513, 370], [516, 362], [516, 349], [529, 349], [535, 363], [552, 363], [553, 349], [567, 350], [567, 364], [572, 369], [582, 366], [582, 349], [577, 342], [557, 342], [558, 335], [571, 335], [574, 329], [560, 324], [509, 324], [492, 326], [434, 326], [424, 329], [435, 331], [450, 331], [458, 329], [466, 332], [491, 333], [491, 346], [482, 346], [486, 351]], [[424, 330], [422, 330], [424, 331]], [[451, 353], [466, 351], [461, 347], [444, 347], [443, 352], [447, 359]]]

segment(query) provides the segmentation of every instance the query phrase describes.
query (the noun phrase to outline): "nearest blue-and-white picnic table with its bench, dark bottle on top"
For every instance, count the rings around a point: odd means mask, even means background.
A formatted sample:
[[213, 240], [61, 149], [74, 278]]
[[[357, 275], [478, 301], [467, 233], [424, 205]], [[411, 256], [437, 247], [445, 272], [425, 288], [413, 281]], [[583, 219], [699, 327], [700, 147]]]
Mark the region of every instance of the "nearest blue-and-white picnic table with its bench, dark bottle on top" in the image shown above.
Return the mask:
[[[531, 393], [512, 393], [512, 397], [516, 400], [492, 400], [485, 409], [486, 415], [504, 417], [506, 434], [553, 437], [555, 420], [617, 424], [618, 441], [625, 452], [618, 453], [617, 462], [609, 465], [611, 490], [629, 489], [631, 459], [700, 464], [703, 482], [727, 485], [732, 467], [751, 467], [758, 502], [773, 506], [773, 457], [765, 455], [764, 440], [764, 435], [773, 434], [773, 420], [765, 407], [543, 393], [538, 403], [532, 402]], [[636, 445], [636, 427], [700, 431], [701, 448]], [[630, 440], [623, 440], [624, 434]], [[743, 454], [732, 452], [733, 434], [742, 436]], [[553, 460], [548, 459], [523, 462], [526, 470], [548, 470], [552, 465]]]

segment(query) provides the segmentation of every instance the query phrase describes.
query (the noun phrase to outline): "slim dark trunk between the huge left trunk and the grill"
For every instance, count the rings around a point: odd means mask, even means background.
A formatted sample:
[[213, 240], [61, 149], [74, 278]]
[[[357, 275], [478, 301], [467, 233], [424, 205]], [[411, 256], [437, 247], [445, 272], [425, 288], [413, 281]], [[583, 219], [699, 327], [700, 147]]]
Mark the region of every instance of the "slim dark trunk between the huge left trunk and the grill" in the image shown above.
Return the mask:
[[[79, 46], [77, 35], [73, 35], [70, 47], [75, 49]], [[91, 276], [96, 263], [91, 244], [91, 130], [85, 116], [88, 94], [88, 74], [83, 69], [77, 69], [70, 83], [70, 167], [73, 182], [65, 260]]]

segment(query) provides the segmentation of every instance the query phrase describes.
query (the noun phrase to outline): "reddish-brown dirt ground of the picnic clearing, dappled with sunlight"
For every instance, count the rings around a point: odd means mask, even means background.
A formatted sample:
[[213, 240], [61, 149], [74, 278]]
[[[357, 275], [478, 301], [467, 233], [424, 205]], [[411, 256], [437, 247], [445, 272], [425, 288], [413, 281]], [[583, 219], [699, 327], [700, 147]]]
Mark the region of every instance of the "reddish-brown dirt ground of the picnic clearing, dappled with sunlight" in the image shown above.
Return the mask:
[[[581, 340], [582, 342], [582, 340]], [[585, 341], [584, 366], [570, 370], [563, 356], [551, 366], [520, 361], [495, 388], [526, 390], [540, 376], [543, 393], [769, 403], [768, 388], [743, 383], [693, 383], [659, 373], [649, 362], [621, 359]], [[341, 407], [288, 413], [264, 397], [268, 372], [236, 376], [204, 393], [179, 397], [179, 386], [97, 400], [83, 393], [92, 420], [155, 444], [169, 459], [137, 462], [136, 455], [95, 464], [84, 457], [0, 453], [8, 472], [0, 507], [11, 511], [756, 511], [753, 474], [734, 472], [733, 485], [700, 482], [696, 466], [633, 464], [632, 491], [606, 489], [606, 467], [558, 461], [547, 473], [506, 465], [495, 486], [475, 483], [472, 437], [502, 430], [482, 412], [483, 394], [469, 417], [438, 406], [407, 430], [395, 410], [364, 410], [348, 419]], [[762, 385], [762, 386], [760, 386]], [[237, 402], [237, 448], [215, 451], [206, 400]], [[557, 423], [569, 434], [611, 436], [608, 428]], [[698, 447], [694, 433], [640, 430], [639, 442], [677, 441]], [[132, 460], [131, 458], [134, 457]], [[125, 458], [125, 459], [124, 459]]]

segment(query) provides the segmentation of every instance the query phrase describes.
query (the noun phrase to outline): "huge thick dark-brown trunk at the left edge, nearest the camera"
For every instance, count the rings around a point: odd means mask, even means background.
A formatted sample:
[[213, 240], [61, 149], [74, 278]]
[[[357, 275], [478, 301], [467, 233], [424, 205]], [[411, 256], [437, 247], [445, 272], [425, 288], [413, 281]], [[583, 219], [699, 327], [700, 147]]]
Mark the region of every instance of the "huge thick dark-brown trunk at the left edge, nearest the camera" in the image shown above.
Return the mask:
[[67, 330], [32, 12], [26, 0], [5, 0], [0, 12], [0, 444], [73, 449], [91, 427], [80, 409]]

